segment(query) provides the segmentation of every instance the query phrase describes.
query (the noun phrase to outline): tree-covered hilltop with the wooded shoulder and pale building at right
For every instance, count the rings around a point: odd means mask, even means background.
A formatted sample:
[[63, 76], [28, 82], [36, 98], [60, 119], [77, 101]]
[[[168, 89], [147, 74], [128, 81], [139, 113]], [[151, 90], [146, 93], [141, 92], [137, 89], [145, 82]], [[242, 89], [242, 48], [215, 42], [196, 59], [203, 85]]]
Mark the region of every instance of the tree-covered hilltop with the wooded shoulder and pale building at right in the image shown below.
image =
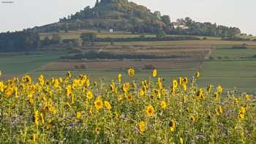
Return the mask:
[[132, 31], [134, 33], [153, 33], [165, 31], [166, 34], [184, 34], [214, 37], [233, 37], [240, 34], [236, 27], [217, 26], [216, 23], [195, 22], [191, 18], [179, 19], [183, 27], [174, 26], [169, 15], [161, 12], [151, 12], [147, 7], [128, 0], [96, 1], [94, 7], [85, 7], [80, 12], [61, 18], [58, 23], [37, 27], [37, 31], [69, 31], [79, 29], [114, 29], [118, 31]]

